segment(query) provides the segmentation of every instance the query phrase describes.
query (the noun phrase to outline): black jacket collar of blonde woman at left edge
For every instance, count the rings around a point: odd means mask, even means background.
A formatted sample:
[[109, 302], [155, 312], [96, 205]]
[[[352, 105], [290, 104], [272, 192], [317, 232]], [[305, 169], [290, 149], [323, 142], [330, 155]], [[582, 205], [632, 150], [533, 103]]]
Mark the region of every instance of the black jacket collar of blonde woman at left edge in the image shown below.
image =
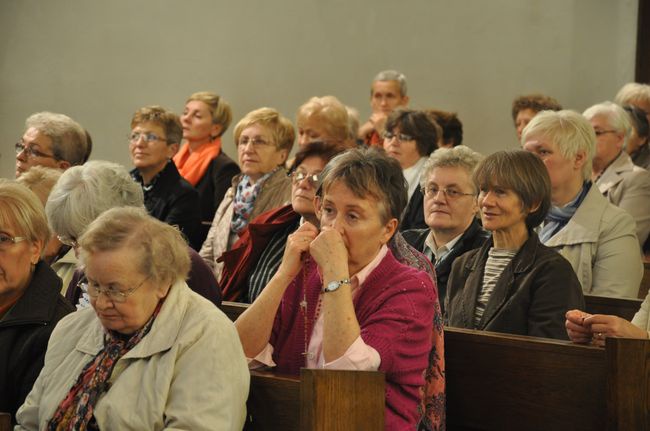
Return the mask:
[[23, 296], [7, 312], [1, 326], [18, 323], [45, 323], [52, 320], [56, 312], [61, 279], [42, 260], [36, 264], [34, 274]]

